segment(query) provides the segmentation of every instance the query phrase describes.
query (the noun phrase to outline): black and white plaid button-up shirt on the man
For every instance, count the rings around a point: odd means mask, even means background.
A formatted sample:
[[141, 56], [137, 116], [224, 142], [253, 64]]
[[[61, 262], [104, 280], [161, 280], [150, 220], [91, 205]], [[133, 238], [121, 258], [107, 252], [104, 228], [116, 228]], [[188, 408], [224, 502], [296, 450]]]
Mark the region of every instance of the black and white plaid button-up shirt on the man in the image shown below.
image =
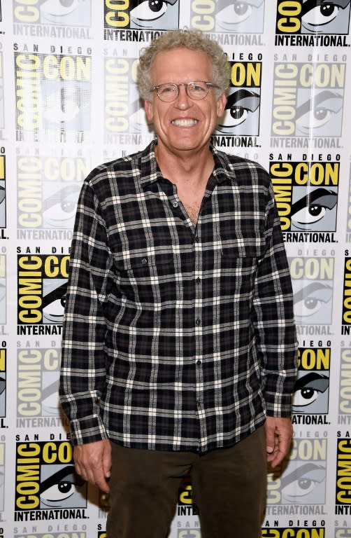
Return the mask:
[[261, 166], [211, 148], [194, 227], [154, 147], [83, 184], [60, 396], [75, 444], [204, 452], [289, 417], [291, 282]]

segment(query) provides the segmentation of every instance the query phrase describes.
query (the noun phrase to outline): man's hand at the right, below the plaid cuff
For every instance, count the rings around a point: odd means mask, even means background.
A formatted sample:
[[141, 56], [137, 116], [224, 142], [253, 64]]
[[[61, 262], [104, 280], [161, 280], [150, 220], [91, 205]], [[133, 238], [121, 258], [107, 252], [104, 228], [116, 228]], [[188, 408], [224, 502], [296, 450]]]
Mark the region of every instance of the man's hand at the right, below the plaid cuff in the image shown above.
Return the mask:
[[289, 453], [292, 434], [289, 418], [266, 417], [267, 461], [271, 467], [277, 467]]

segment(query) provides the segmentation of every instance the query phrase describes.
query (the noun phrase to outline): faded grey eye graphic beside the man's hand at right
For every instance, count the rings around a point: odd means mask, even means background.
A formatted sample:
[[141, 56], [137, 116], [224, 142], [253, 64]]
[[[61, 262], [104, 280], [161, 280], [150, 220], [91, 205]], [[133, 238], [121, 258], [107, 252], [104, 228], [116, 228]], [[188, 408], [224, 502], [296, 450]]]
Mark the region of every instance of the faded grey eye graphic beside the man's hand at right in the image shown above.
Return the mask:
[[325, 467], [306, 463], [282, 478], [282, 496], [289, 502], [303, 502], [325, 480]]

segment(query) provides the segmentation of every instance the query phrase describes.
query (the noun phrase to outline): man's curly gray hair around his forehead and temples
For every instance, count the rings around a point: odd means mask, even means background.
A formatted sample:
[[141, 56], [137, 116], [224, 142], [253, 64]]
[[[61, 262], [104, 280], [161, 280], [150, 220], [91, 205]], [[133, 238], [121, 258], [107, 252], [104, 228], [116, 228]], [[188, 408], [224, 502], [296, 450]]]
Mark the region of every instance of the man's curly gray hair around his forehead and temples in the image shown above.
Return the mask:
[[199, 30], [175, 29], [161, 34], [147, 48], [143, 48], [138, 62], [138, 85], [143, 99], [151, 99], [152, 86], [150, 70], [155, 56], [163, 50], [185, 47], [191, 50], [201, 50], [210, 58], [213, 65], [213, 81], [219, 86], [217, 97], [227, 92], [230, 81], [230, 67], [227, 55], [216, 43], [211, 41]]

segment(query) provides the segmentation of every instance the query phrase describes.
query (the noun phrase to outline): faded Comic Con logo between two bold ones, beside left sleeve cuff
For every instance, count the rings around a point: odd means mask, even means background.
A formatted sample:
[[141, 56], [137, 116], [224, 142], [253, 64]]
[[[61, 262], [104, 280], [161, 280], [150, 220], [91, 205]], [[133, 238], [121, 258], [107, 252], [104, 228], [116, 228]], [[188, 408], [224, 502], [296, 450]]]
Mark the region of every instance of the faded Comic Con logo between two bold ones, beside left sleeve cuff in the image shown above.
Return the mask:
[[[3, 350], [0, 350], [0, 352]], [[59, 416], [59, 349], [17, 350], [17, 417]]]

